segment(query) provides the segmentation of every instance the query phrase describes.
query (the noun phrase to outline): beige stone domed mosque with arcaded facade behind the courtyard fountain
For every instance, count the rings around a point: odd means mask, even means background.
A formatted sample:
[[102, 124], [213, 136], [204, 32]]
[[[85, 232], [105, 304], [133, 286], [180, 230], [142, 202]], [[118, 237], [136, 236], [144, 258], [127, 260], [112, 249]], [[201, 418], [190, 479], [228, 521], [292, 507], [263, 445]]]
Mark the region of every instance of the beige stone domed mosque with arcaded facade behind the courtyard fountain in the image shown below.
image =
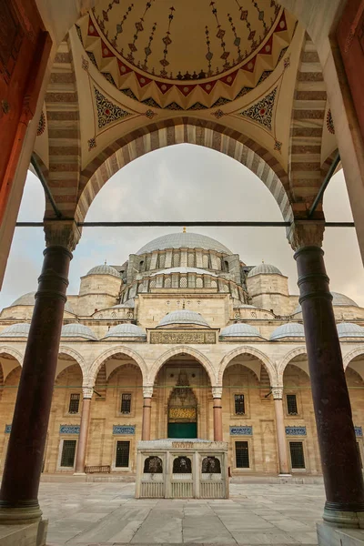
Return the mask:
[[[364, 308], [332, 292], [360, 460]], [[0, 464], [35, 292], [0, 314]], [[43, 472], [131, 479], [137, 440], [225, 440], [233, 478], [321, 473], [301, 308], [275, 266], [173, 233], [68, 295]]]

